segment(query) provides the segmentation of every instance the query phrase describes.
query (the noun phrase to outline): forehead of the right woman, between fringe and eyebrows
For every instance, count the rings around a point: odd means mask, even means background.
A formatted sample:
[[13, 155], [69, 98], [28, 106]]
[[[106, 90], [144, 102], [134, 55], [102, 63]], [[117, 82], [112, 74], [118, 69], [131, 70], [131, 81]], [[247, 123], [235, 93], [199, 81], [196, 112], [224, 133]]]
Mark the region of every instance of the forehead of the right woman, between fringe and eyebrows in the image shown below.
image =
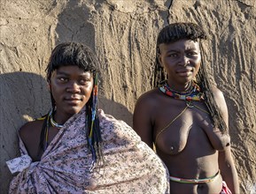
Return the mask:
[[179, 41], [174, 41], [170, 43], [161, 43], [159, 44], [160, 51], [169, 51], [169, 50], [198, 50], [199, 51], [199, 42], [198, 41], [191, 41], [187, 39], [182, 39]]

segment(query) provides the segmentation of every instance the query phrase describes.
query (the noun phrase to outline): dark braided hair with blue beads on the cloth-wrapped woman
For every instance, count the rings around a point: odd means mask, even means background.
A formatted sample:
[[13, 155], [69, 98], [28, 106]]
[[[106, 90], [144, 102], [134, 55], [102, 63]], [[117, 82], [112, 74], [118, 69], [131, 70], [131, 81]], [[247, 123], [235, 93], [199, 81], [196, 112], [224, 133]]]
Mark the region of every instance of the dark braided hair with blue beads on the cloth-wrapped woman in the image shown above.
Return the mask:
[[[76, 42], [65, 42], [60, 43], [56, 48], [52, 50], [50, 60], [48, 66], [46, 68], [47, 73], [47, 81], [50, 83], [50, 78], [52, 72], [58, 70], [58, 68], [62, 66], [78, 66], [83, 71], [90, 71], [93, 74], [93, 91], [90, 95], [89, 101], [86, 103], [86, 121], [87, 126], [87, 139], [88, 139], [88, 146], [89, 151], [92, 154], [93, 162], [103, 160], [102, 155], [102, 138], [99, 128], [99, 120], [98, 120], [98, 108], [97, 108], [97, 77], [100, 73], [99, 70], [99, 62], [97, 61], [97, 56], [92, 52], [92, 50], [81, 44]], [[40, 147], [39, 149], [45, 149], [44, 142], [45, 133], [47, 130], [47, 125], [49, 125], [49, 118], [51, 112], [55, 109], [55, 100], [52, 96], [51, 89], [50, 89], [50, 100], [51, 100], [51, 110], [48, 115], [45, 116], [43, 127], [41, 131], [41, 138], [40, 138]], [[40, 151], [40, 150], [39, 150]], [[99, 160], [98, 160], [99, 159]]]

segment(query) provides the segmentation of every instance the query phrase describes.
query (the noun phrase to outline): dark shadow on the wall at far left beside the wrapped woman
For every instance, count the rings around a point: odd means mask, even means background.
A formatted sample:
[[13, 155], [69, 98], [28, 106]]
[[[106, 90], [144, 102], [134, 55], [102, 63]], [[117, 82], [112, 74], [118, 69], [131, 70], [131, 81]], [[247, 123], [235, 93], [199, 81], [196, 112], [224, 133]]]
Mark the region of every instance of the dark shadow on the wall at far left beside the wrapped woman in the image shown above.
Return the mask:
[[48, 111], [49, 101], [42, 76], [22, 71], [0, 75], [0, 193], [7, 193], [12, 178], [5, 161], [19, 156], [17, 131]]

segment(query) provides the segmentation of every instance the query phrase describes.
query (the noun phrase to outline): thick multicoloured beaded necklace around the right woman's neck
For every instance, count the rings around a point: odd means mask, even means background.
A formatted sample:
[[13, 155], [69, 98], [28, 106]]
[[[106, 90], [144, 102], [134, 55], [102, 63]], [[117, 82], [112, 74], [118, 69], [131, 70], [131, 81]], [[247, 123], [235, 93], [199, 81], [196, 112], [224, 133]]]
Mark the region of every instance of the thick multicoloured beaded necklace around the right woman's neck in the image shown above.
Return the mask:
[[183, 100], [183, 101], [203, 101], [204, 100], [203, 93], [201, 93], [200, 87], [195, 81], [192, 82], [192, 88], [188, 92], [175, 91], [170, 86], [168, 86], [167, 81], [163, 85], [159, 86], [159, 90], [162, 93], [166, 93], [168, 96], [172, 98]]

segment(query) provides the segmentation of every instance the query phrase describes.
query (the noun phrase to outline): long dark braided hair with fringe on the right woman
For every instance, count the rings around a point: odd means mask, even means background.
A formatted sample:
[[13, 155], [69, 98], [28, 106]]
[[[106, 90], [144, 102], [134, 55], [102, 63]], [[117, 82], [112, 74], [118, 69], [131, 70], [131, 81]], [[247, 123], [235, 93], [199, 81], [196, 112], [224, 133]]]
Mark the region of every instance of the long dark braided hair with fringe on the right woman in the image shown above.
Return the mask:
[[200, 86], [202, 93], [205, 96], [205, 103], [210, 113], [214, 127], [220, 129], [221, 133], [227, 133], [228, 127], [225, 123], [221, 111], [213, 96], [213, 85], [207, 76], [206, 65], [204, 60], [204, 52], [201, 45], [201, 40], [206, 40], [207, 36], [204, 30], [194, 23], [173, 23], [165, 26], [158, 35], [156, 48], [155, 71], [152, 80], [152, 86], [157, 87], [161, 82], [167, 79], [167, 73], [159, 63], [159, 45], [162, 43], [168, 44], [171, 42], [187, 39], [191, 41], [199, 41], [201, 51], [201, 67], [199, 68], [196, 80]]

